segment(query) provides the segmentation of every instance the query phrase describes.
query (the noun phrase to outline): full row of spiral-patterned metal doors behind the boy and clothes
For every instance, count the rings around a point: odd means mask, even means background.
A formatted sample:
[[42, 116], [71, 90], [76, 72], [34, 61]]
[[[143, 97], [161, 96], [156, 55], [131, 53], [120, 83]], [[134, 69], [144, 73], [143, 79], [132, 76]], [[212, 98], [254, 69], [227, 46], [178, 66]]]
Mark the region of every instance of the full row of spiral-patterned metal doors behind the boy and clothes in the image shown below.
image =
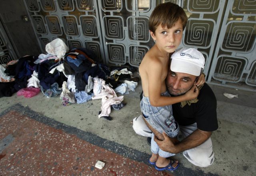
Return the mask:
[[24, 0], [42, 52], [61, 38], [70, 49], [92, 49], [106, 64], [136, 67], [154, 45], [149, 16], [165, 2], [184, 8], [189, 19], [180, 47], [203, 53], [207, 82], [255, 91], [255, 1]]

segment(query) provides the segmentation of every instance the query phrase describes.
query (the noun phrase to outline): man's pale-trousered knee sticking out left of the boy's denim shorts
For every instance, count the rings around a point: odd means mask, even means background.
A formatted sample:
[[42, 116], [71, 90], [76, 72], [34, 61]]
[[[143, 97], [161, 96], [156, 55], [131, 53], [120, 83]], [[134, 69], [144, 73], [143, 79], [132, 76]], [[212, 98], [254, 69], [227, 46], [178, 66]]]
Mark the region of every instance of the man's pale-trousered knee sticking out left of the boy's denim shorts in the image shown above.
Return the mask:
[[133, 119], [132, 128], [138, 135], [151, 137], [152, 131], [148, 128], [148, 126], [146, 125], [142, 118], [142, 115], [140, 115], [139, 117], [135, 117]]

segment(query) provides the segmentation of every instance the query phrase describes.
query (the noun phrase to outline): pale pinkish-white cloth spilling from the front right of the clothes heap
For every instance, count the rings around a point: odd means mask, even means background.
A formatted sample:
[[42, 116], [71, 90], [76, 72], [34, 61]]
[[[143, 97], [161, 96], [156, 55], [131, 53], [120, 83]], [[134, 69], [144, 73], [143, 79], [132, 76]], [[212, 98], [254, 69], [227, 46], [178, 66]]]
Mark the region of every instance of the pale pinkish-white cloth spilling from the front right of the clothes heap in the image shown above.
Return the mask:
[[[102, 116], [109, 116], [111, 112], [111, 105], [112, 104], [120, 104], [124, 100], [124, 96], [116, 96], [116, 92], [110, 88], [110, 86], [106, 85], [105, 80], [101, 78], [93, 78], [94, 80], [94, 87], [92, 96], [92, 100], [102, 98], [102, 106], [101, 106], [101, 113], [98, 117]], [[99, 91], [100, 90], [100, 91]]]

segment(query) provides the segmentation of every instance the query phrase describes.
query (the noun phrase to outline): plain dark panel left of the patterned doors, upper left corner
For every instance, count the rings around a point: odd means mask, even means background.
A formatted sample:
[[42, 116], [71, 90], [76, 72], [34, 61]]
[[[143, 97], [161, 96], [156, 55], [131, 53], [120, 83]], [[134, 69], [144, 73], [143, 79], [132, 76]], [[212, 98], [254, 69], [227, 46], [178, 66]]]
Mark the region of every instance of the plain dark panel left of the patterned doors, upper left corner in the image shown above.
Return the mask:
[[11, 55], [16, 57], [39, 55], [42, 52], [28, 17], [22, 0], [0, 1], [2, 27], [9, 41], [6, 44], [14, 49]]

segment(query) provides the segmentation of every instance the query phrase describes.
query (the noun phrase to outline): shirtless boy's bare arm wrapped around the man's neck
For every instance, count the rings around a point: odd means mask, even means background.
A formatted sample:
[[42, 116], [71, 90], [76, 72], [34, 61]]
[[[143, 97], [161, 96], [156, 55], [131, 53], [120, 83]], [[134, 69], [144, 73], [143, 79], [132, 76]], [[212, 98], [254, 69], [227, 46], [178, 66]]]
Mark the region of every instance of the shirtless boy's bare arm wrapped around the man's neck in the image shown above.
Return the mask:
[[[163, 82], [162, 82], [163, 69], [164, 68], [162, 68], [162, 63], [157, 61], [150, 62], [148, 64], [148, 68], [146, 69], [148, 74], [148, 96], [149, 96], [150, 104], [152, 106], [167, 106], [170, 104], [175, 104], [178, 102], [183, 102], [183, 101], [192, 99], [192, 98], [188, 98], [188, 96], [185, 96], [185, 95], [175, 96], [175, 97], [167, 97], [167, 96], [160, 95], [162, 93], [161, 86], [163, 85]], [[194, 89], [198, 91], [196, 86], [194, 86]]]

